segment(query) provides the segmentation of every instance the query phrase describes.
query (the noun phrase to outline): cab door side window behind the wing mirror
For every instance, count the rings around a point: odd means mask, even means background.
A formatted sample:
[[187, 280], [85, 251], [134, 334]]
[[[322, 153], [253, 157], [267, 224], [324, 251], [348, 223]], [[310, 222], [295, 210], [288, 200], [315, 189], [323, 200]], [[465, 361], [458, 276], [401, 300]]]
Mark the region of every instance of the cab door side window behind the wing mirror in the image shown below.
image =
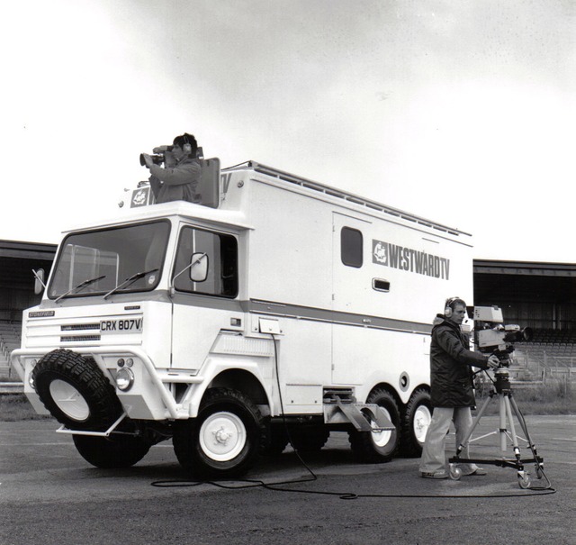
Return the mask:
[[238, 241], [229, 234], [184, 227], [173, 272], [177, 291], [238, 295]]

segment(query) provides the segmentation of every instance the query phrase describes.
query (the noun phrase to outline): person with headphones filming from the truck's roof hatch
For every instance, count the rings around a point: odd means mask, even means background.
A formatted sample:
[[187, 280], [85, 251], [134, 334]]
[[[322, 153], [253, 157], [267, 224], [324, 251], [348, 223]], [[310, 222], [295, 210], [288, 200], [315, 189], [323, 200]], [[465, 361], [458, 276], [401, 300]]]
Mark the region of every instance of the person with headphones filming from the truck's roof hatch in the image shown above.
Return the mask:
[[166, 168], [155, 165], [152, 158], [143, 153], [146, 167], [151, 176], [148, 178], [157, 204], [169, 201], [189, 201], [197, 203], [196, 187], [200, 181], [202, 167], [196, 159], [198, 144], [192, 134], [184, 132], [176, 136], [174, 145], [166, 150]]

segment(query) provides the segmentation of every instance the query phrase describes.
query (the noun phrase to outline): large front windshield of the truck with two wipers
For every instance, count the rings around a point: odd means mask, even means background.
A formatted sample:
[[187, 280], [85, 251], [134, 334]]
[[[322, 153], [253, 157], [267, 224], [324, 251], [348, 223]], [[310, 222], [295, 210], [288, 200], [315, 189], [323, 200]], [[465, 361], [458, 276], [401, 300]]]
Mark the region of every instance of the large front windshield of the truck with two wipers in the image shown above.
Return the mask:
[[[159, 221], [68, 235], [54, 266], [49, 298], [154, 289], [169, 232], [170, 223]], [[125, 282], [129, 278], [131, 281]]]

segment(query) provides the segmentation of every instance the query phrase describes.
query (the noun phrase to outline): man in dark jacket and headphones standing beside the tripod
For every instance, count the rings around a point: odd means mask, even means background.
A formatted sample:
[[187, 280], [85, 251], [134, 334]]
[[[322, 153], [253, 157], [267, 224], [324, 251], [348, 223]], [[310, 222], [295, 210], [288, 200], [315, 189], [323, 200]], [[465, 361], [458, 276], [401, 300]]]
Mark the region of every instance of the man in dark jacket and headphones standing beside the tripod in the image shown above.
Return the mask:
[[[446, 301], [444, 315], [437, 314], [430, 343], [430, 389], [434, 407], [428, 427], [419, 476], [447, 478], [444, 452], [446, 433], [450, 423], [456, 430], [456, 448], [473, 425], [470, 408], [476, 402], [473, 392], [472, 367], [497, 368], [499, 359], [469, 350], [469, 341], [460, 329], [466, 315], [466, 304], [453, 297]], [[463, 458], [469, 458], [468, 446]], [[459, 464], [463, 475], [486, 475], [475, 464]]]

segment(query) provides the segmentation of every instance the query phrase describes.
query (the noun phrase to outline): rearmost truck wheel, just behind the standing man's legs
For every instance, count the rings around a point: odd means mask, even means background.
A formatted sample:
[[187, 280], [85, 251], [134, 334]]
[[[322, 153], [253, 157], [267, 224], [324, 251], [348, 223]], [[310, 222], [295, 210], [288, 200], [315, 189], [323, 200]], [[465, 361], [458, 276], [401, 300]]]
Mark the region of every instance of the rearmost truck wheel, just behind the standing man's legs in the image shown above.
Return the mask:
[[418, 388], [410, 397], [402, 416], [401, 452], [404, 456], [418, 457], [422, 454], [431, 421], [430, 394], [428, 390]]

